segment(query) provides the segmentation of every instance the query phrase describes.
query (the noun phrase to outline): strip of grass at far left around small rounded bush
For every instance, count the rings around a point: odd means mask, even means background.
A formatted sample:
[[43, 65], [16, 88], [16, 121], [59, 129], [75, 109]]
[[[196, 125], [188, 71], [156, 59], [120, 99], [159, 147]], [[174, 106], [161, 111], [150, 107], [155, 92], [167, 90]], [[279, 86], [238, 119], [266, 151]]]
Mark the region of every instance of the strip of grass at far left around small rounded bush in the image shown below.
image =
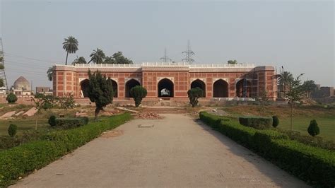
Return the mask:
[[[9, 124], [16, 124], [18, 126], [18, 135], [23, 131], [35, 130], [36, 119], [8, 119], [0, 120], [0, 136], [8, 136]], [[47, 119], [39, 119], [37, 121], [37, 130], [47, 129], [49, 124]]]

